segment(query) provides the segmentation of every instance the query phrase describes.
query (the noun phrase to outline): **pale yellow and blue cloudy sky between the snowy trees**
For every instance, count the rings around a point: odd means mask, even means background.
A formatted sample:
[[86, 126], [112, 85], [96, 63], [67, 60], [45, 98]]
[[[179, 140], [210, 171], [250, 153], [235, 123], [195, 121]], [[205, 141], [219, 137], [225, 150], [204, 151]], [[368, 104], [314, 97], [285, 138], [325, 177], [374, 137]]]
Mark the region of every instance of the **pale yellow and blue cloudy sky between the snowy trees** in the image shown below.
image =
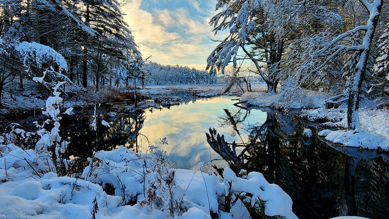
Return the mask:
[[143, 58], [159, 64], [205, 69], [217, 43], [210, 19], [216, 0], [125, 0], [128, 23]]

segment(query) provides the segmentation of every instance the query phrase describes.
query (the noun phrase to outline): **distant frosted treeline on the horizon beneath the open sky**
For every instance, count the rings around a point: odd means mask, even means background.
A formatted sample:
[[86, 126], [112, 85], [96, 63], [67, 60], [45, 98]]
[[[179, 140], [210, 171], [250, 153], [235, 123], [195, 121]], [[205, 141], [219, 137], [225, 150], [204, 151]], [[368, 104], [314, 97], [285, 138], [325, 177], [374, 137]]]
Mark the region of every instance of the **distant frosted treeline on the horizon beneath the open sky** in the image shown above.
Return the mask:
[[160, 65], [150, 62], [145, 65], [147, 85], [178, 85], [178, 84], [216, 84], [217, 75], [195, 68]]

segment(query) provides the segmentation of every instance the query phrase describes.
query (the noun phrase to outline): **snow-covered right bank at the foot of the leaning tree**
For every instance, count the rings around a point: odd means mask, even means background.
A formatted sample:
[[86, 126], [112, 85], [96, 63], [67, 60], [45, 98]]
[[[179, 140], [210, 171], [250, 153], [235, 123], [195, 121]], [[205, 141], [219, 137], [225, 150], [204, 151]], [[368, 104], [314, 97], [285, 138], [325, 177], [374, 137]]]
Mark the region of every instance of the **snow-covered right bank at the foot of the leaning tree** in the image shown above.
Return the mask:
[[278, 110], [302, 109], [301, 118], [318, 122], [319, 135], [334, 144], [380, 149], [389, 151], [389, 110], [377, 109], [377, 104], [369, 99], [360, 103], [359, 120], [361, 128], [348, 131], [347, 104], [338, 108], [326, 109], [325, 100], [330, 95], [315, 91], [300, 91], [300, 95], [291, 100], [283, 99], [275, 92], [246, 92], [241, 98], [245, 106], [270, 107]]

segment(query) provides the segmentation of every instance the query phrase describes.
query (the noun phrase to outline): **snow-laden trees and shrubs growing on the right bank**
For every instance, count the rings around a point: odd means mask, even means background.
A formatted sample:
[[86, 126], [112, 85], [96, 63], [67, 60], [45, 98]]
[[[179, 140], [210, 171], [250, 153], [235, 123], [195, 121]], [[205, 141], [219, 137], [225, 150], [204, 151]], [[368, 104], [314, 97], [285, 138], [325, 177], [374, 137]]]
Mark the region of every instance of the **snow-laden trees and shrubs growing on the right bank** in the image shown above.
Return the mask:
[[[326, 97], [312, 98], [306, 90], [343, 93], [339, 105], [347, 104], [347, 129], [354, 134], [337, 137], [359, 140], [335, 142], [364, 145], [365, 138], [358, 136], [372, 133], [361, 128], [361, 99], [369, 96], [379, 107], [388, 105], [387, 8], [383, 0], [218, 0], [213, 32], [230, 34], [208, 57], [207, 69], [224, 73], [232, 63], [239, 71], [242, 63], [251, 63], [249, 71], [261, 75], [268, 94], [248, 94], [241, 101], [256, 106], [317, 108]], [[280, 82], [280, 92], [271, 93]], [[382, 144], [369, 148], [387, 147]]]

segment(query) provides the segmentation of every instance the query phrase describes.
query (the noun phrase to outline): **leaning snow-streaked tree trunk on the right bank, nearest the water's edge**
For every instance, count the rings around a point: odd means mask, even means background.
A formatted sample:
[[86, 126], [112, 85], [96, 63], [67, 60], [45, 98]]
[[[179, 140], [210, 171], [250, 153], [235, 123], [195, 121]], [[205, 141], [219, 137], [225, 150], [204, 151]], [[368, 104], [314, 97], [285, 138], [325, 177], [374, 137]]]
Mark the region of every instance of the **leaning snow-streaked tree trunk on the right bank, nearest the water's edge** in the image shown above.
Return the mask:
[[371, 50], [371, 42], [374, 37], [375, 28], [378, 23], [379, 14], [381, 13], [382, 3], [383, 0], [374, 0], [374, 2], [379, 1], [380, 4], [375, 8], [372, 8], [370, 13], [370, 18], [368, 21], [369, 28], [367, 29], [365, 33], [365, 37], [363, 39], [364, 44], [366, 44], [366, 47], [364, 50], [362, 50], [361, 55], [359, 56], [358, 64], [356, 65], [354, 77], [353, 77], [353, 83], [350, 85], [350, 91], [349, 91], [349, 101], [348, 101], [348, 107], [347, 107], [347, 123], [349, 125], [349, 130], [355, 130], [360, 128], [359, 123], [359, 100], [360, 100], [360, 94], [362, 89], [363, 80], [366, 73], [366, 66], [368, 64], [368, 59], [370, 55]]

